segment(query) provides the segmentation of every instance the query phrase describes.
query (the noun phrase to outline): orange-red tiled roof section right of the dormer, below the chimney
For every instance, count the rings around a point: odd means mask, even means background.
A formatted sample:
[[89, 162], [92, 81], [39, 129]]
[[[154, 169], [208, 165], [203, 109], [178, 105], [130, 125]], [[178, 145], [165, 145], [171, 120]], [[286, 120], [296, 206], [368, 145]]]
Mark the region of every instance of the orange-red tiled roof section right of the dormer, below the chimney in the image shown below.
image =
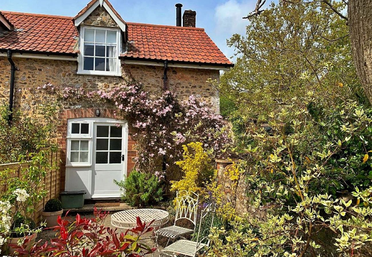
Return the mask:
[[204, 29], [130, 23], [128, 52], [131, 58], [227, 64], [231, 62], [218, 49]]

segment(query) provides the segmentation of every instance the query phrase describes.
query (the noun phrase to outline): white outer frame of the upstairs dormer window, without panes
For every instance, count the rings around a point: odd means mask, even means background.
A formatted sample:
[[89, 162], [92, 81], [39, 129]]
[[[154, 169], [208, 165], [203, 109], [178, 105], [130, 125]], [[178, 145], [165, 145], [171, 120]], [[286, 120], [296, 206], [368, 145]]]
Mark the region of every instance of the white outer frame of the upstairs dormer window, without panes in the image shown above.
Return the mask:
[[[89, 71], [84, 70], [84, 35], [85, 29], [101, 29], [116, 31], [116, 71]], [[121, 76], [121, 62], [119, 53], [121, 52], [121, 30], [99, 26], [81, 26], [80, 28], [80, 53], [78, 55], [78, 70], [77, 74], [83, 75], [102, 75], [102, 76]], [[105, 57], [106, 58], [106, 57]]]

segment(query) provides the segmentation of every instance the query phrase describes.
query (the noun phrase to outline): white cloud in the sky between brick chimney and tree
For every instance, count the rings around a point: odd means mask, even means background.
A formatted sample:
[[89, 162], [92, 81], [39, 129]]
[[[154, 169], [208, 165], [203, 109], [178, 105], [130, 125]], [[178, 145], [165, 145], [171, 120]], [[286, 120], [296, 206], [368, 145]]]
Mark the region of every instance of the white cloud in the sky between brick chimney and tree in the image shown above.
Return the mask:
[[[221, 51], [228, 58], [234, 54], [234, 49], [226, 45], [226, 40], [230, 39], [235, 33], [245, 35], [248, 20], [242, 18], [254, 10], [255, 6], [256, 0], [228, 0], [215, 8], [214, 38]], [[232, 61], [235, 61], [234, 59], [232, 58]]]

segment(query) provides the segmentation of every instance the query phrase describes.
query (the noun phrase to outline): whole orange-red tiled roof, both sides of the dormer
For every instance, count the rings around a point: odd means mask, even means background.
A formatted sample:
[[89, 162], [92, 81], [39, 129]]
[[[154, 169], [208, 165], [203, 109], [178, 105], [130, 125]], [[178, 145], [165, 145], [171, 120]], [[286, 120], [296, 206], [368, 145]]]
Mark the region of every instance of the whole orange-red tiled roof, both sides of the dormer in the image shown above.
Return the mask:
[[[73, 17], [1, 11], [17, 31], [0, 33], [0, 49], [76, 54]], [[134, 59], [231, 66], [204, 29], [126, 23], [128, 51]]]

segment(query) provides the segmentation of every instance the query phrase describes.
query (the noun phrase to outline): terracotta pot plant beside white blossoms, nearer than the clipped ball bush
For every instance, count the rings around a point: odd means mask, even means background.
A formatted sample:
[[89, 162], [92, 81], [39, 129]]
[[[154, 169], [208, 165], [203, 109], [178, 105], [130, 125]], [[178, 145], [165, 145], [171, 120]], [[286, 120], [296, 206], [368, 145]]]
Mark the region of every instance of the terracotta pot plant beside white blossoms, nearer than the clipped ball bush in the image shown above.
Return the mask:
[[35, 244], [36, 237], [38, 237], [36, 223], [33, 219], [27, 218], [23, 215], [17, 215], [10, 227], [9, 238], [9, 254], [12, 256], [15, 252], [15, 245], [27, 240], [27, 245], [31, 247]]

